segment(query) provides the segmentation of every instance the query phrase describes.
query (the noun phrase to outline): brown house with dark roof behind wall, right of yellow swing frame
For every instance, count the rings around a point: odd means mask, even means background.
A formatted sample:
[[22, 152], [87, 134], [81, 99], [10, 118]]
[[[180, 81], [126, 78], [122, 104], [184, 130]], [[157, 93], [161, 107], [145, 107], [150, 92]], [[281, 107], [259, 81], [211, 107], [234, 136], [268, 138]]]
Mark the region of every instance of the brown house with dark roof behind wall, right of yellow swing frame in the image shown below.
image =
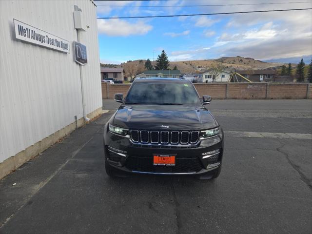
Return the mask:
[[[276, 71], [273, 69], [237, 71], [237, 73], [253, 82], [269, 82], [276, 78]], [[243, 81], [240, 79], [242, 78], [238, 78], [239, 82]]]

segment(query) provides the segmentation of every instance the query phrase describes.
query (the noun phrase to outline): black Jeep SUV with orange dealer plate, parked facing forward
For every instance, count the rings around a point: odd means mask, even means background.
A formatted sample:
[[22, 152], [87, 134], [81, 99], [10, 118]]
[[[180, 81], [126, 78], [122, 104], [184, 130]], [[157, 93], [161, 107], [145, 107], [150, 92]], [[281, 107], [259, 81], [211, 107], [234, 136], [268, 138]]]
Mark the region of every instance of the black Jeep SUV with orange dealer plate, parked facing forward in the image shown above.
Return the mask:
[[180, 78], [136, 79], [104, 127], [105, 169], [120, 172], [196, 175], [221, 171], [223, 131], [194, 85]]

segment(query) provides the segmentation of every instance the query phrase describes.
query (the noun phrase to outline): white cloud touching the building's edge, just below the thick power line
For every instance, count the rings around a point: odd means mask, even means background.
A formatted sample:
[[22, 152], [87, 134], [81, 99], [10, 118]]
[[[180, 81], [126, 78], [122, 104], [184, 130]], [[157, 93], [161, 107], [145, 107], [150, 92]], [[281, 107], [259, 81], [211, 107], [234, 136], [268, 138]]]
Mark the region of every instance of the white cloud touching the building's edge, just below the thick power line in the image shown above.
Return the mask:
[[153, 29], [152, 25], [146, 24], [143, 21], [130, 23], [126, 20], [111, 19], [98, 20], [98, 33], [108, 36], [130, 36], [144, 35]]

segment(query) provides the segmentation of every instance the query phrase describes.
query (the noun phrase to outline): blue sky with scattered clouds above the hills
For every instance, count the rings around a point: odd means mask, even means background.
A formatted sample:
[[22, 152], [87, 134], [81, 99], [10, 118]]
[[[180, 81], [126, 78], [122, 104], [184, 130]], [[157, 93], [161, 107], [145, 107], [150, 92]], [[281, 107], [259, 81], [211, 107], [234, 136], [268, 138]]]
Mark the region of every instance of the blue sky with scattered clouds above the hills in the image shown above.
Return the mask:
[[[96, 1], [96, 4], [98, 17], [312, 8], [312, 0]], [[220, 4], [236, 5], [180, 6]], [[162, 49], [167, 52], [170, 60], [216, 59], [225, 56], [261, 60], [302, 57], [312, 54], [312, 10], [223, 16], [99, 19], [98, 40], [100, 60], [107, 63], [152, 60], [153, 52], [156, 58]]]

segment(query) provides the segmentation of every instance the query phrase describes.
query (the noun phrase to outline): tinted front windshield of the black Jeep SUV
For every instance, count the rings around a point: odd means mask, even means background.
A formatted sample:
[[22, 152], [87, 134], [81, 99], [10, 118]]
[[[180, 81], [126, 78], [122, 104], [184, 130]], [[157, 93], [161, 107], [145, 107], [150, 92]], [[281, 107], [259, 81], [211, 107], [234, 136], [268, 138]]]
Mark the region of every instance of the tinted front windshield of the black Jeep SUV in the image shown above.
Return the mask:
[[125, 104], [201, 105], [201, 102], [190, 83], [156, 81], [134, 83]]

